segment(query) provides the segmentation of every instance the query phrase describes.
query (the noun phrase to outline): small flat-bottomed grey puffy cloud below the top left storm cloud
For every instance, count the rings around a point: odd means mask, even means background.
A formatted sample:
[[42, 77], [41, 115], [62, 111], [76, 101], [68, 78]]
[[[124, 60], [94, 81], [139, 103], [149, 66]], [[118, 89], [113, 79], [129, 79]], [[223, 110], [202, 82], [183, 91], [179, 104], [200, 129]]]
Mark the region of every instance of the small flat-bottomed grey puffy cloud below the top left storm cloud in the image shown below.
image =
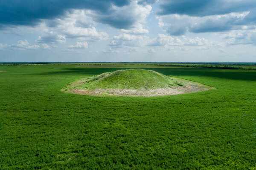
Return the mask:
[[45, 32], [36, 40], [38, 43], [66, 43], [64, 35], [58, 35], [56, 32]]

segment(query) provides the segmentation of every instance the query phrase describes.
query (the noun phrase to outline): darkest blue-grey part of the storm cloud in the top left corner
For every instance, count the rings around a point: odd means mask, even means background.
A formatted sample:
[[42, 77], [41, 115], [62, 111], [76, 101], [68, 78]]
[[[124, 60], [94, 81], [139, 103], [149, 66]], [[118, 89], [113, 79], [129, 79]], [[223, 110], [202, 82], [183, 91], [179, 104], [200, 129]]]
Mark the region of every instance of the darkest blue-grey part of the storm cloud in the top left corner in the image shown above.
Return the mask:
[[41, 19], [59, 17], [71, 9], [110, 14], [113, 5], [121, 7], [129, 3], [130, 0], [0, 0], [0, 27], [35, 26]]

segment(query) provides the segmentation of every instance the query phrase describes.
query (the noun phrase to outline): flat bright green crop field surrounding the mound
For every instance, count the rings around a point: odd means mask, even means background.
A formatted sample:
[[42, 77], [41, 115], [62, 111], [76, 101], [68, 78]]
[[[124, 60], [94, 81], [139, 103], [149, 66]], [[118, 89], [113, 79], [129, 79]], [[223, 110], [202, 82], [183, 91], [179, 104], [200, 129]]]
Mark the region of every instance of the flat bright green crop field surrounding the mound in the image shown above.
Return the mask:
[[216, 89], [147, 98], [61, 92], [118, 67], [0, 66], [0, 170], [256, 170], [255, 70], [125, 65]]

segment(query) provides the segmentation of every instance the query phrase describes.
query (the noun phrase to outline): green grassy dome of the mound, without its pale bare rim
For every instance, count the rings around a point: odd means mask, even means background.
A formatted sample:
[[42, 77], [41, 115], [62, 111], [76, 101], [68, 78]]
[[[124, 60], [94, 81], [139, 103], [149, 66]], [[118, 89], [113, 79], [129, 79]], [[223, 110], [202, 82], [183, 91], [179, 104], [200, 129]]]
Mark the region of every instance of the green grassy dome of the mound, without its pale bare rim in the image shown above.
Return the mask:
[[[126, 69], [81, 79], [77, 89], [156, 89], [183, 86], [183, 83], [151, 70]], [[78, 85], [78, 86], [77, 86]]]

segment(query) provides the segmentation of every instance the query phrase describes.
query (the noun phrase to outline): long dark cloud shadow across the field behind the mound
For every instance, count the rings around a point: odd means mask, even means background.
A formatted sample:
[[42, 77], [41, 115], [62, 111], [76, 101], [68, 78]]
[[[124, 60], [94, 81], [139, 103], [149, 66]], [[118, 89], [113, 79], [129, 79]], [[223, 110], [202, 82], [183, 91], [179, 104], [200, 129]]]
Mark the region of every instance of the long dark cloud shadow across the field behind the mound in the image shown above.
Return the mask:
[[[119, 69], [129, 68], [64, 68], [60, 71], [54, 72], [41, 72], [31, 75], [98, 75], [104, 72], [113, 72]], [[154, 70], [164, 75], [169, 76], [202, 76], [202, 77], [215, 77], [224, 78], [230, 80], [245, 80], [245, 81], [256, 81], [256, 71], [254, 70], [234, 70], [234, 69], [212, 69], [212, 68], [142, 68]]]

